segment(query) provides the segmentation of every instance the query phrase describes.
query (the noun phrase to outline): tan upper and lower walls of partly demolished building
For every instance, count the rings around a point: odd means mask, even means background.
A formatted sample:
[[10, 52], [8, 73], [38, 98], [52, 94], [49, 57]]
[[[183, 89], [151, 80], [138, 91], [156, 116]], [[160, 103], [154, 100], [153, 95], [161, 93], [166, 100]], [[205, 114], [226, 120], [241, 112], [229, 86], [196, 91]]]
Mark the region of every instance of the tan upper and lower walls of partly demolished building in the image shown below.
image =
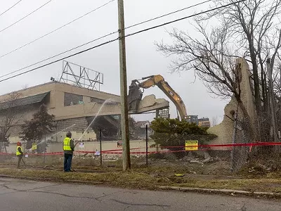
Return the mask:
[[[119, 96], [113, 94], [107, 94], [101, 91], [94, 91], [90, 89], [84, 89], [81, 87], [72, 86], [70, 84], [64, 84], [60, 82], [49, 82], [47, 84], [41, 84], [39, 86], [30, 87], [27, 89], [23, 89], [17, 91], [20, 94], [20, 98], [25, 98], [28, 96], [34, 96], [37, 94], [42, 94], [46, 92], [50, 92], [46, 97], [46, 101], [44, 102], [48, 108], [48, 113], [55, 115], [55, 120], [58, 125], [57, 131], [63, 130], [67, 127], [70, 127], [70, 123], [76, 124], [76, 127], [70, 128], [73, 134], [74, 139], [79, 139], [79, 137], [83, 134], [83, 130], [88, 127], [88, 122], [86, 122], [87, 116], [93, 116], [98, 113], [100, 109], [101, 103], [91, 102], [91, 97], [99, 98], [106, 100], [107, 98], [111, 98], [113, 101], [119, 101]], [[84, 104], [74, 105], [74, 106], [66, 106], [64, 103], [65, 92], [73, 93], [83, 96]], [[5, 94], [0, 96], [0, 102], [7, 101], [9, 94]], [[25, 106], [18, 110], [17, 115], [15, 116], [15, 121], [17, 124], [13, 126], [8, 134], [11, 134], [9, 140], [11, 143], [17, 142], [20, 140], [20, 131], [21, 125], [24, 123], [24, 120], [31, 120], [32, 115], [39, 110], [39, 106], [41, 104], [32, 104]], [[120, 110], [118, 105], [109, 105], [103, 109], [103, 115], [108, 115], [112, 113], [118, 113]], [[0, 119], [1, 119], [0, 115]], [[72, 120], [70, 120], [72, 119]], [[71, 124], [72, 124], [71, 123]], [[53, 136], [53, 139], [58, 141], [62, 141], [65, 134], [60, 133], [58, 136]], [[96, 134], [92, 129], [84, 134], [82, 139], [93, 140], [96, 139]]]

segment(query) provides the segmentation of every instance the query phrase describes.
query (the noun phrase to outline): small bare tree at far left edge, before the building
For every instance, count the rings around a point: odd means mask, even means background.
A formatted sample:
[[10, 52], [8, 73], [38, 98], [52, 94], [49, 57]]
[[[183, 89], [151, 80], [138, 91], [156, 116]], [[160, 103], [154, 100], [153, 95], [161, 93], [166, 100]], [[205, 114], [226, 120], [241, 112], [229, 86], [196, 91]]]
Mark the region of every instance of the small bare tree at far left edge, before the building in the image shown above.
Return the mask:
[[18, 124], [20, 116], [18, 116], [18, 98], [21, 94], [13, 92], [7, 96], [3, 103], [0, 103], [0, 152], [1, 146], [8, 143], [8, 134], [11, 127]]

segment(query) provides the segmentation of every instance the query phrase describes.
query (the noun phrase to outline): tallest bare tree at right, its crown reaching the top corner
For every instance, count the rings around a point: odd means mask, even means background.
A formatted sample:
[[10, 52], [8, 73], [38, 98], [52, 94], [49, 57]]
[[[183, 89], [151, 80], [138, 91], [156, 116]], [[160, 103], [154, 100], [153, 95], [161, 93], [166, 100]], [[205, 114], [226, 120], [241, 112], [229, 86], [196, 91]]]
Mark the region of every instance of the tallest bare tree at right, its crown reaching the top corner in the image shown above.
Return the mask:
[[[230, 0], [235, 2], [235, 0]], [[214, 0], [216, 6], [222, 6], [229, 0]], [[208, 13], [204, 17], [197, 18], [198, 21], [216, 18], [221, 25], [228, 25], [230, 36], [233, 37], [237, 46], [237, 53], [244, 55], [251, 63], [254, 77], [254, 96], [256, 110], [261, 112], [261, 89], [263, 97], [266, 91], [266, 84], [260, 83], [266, 77], [265, 63], [271, 57], [273, 66], [277, 51], [280, 49], [280, 0], [252, 0], [243, 1], [234, 6], [228, 6], [214, 13]], [[240, 56], [232, 55], [232, 56]]]

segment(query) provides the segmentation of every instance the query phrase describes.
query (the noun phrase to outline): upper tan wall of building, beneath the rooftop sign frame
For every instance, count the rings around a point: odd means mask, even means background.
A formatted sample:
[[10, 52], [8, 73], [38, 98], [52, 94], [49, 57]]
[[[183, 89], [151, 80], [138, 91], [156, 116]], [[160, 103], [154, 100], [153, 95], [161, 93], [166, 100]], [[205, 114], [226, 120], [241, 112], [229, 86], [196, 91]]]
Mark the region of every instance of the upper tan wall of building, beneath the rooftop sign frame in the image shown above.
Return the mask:
[[[50, 91], [50, 96], [48, 103], [46, 103], [46, 106], [48, 107], [48, 112], [56, 116], [56, 120], [75, 118], [80, 117], [81, 115], [87, 116], [90, 113], [91, 115], [94, 115], [94, 113], [97, 113], [98, 109], [100, 108], [100, 103], [91, 103], [91, 97], [103, 100], [110, 98], [112, 99], [112, 101], [120, 101], [120, 97], [114, 94], [108, 94], [102, 91], [95, 91], [91, 89], [84, 89], [81, 87], [73, 86], [71, 84], [60, 82], [41, 84], [39, 86], [22, 89], [18, 91], [18, 93], [20, 94], [20, 98], [24, 98], [27, 96], [42, 94], [48, 91]], [[84, 104], [65, 107], [65, 92], [83, 96]], [[6, 101], [7, 98], [8, 94], [0, 96], [0, 102]], [[119, 106], [105, 106], [104, 110], [108, 110], [107, 114], [118, 113]], [[113, 112], [112, 110], [115, 110], [115, 112]]]

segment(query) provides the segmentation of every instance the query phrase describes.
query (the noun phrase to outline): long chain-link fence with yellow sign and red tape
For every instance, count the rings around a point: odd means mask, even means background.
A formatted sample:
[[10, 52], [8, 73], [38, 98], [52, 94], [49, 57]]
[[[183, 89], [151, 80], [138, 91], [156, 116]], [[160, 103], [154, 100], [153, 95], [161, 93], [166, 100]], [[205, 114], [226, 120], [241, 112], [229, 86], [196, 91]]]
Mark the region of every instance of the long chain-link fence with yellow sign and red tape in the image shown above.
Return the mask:
[[[110, 140], [103, 129], [99, 129], [96, 139], [77, 142], [73, 166], [122, 167], [122, 141]], [[76, 141], [74, 139], [74, 141]], [[63, 167], [63, 143], [46, 139], [41, 143], [46, 151], [27, 151], [25, 143], [24, 160], [27, 166]], [[15, 144], [4, 147], [0, 153], [1, 165], [16, 165]], [[233, 140], [217, 143], [214, 135], [164, 134], [152, 132], [146, 127], [143, 136], [130, 139], [131, 163], [133, 167], [156, 167], [169, 170], [184, 170], [191, 174], [229, 174], [254, 163], [265, 171], [280, 167], [280, 155], [276, 146], [266, 142], [249, 143], [247, 134], [237, 129]]]

